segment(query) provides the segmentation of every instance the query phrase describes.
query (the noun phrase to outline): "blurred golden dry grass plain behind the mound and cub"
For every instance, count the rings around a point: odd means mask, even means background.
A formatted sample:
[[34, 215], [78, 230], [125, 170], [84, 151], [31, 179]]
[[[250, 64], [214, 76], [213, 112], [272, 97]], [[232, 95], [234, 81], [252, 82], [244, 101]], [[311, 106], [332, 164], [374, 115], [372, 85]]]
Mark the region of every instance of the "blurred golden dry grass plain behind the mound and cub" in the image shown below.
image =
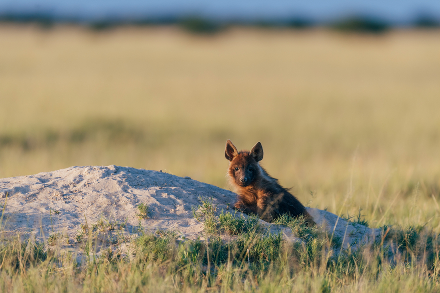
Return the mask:
[[439, 37], [3, 25], [0, 177], [116, 164], [226, 187], [226, 139], [261, 141], [303, 202], [435, 228]]

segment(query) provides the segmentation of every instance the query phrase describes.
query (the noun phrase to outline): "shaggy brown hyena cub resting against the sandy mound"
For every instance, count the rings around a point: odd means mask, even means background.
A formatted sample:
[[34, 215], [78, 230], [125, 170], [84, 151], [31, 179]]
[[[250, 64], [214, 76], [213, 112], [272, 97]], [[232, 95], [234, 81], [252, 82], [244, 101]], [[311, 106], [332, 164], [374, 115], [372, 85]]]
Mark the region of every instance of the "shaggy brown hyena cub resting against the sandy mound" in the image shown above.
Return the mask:
[[257, 142], [250, 152], [238, 152], [228, 139], [225, 157], [230, 161], [230, 183], [238, 194], [234, 204], [236, 209], [247, 214], [257, 214], [267, 222], [279, 215], [290, 214], [295, 217], [304, 215], [309, 224], [315, 224], [304, 205], [258, 164], [263, 158], [261, 143]]

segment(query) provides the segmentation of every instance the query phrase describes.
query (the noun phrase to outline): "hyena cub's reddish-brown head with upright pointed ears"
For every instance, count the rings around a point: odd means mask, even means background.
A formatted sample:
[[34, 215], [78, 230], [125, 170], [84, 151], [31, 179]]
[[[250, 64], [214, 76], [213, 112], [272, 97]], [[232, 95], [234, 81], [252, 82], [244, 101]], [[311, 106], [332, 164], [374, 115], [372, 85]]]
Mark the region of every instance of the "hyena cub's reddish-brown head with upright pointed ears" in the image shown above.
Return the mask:
[[246, 187], [259, 175], [260, 168], [258, 161], [263, 159], [263, 147], [260, 142], [257, 142], [250, 152], [238, 152], [237, 148], [228, 139], [226, 142], [225, 157], [230, 161], [228, 174], [231, 182]]

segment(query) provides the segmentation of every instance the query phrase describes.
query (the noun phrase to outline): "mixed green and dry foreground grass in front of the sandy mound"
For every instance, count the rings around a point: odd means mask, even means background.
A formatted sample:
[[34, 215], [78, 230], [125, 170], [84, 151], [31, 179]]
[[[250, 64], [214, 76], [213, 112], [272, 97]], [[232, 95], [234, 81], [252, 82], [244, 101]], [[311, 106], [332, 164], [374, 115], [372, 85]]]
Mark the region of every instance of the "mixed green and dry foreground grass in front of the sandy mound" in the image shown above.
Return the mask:
[[[217, 211], [210, 200], [201, 199], [194, 211], [209, 228], [205, 229], [203, 238], [195, 240], [174, 231], [148, 232], [139, 226], [137, 236], [102, 246], [102, 233], [114, 232], [109, 225], [104, 225], [105, 231], [98, 228], [99, 223], [107, 223], [105, 219], [89, 228], [83, 225], [86, 236], [76, 252], [63, 251], [56, 242], [48, 246], [40, 239], [2, 237], [0, 290], [381, 292], [390, 288], [436, 292], [440, 289], [440, 243], [436, 234], [425, 227], [384, 226], [381, 241], [352, 251], [341, 250], [331, 235], [307, 226], [301, 217], [285, 215], [273, 223], [289, 227], [302, 240], [290, 242], [281, 233], [269, 233], [256, 217]], [[124, 226], [120, 225], [120, 229]], [[221, 237], [225, 234], [230, 235], [228, 240]], [[122, 249], [126, 244], [130, 247], [128, 252]], [[390, 247], [397, 250], [391, 251]], [[83, 257], [78, 261], [81, 253]]]

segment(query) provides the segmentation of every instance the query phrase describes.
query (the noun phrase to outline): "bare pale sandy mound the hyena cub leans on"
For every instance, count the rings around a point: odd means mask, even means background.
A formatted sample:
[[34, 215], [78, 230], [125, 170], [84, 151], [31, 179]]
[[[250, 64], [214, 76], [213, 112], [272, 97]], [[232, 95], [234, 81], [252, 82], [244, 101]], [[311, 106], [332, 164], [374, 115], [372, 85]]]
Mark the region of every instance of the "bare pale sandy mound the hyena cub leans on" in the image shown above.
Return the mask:
[[[36, 238], [58, 232], [68, 235], [73, 244], [80, 224], [102, 219], [124, 223], [125, 233], [136, 231], [140, 221], [140, 225], [151, 230], [171, 229], [195, 238], [203, 231], [203, 224], [192, 213], [192, 208], [200, 204], [199, 199], [212, 198], [219, 210], [233, 212], [229, 207], [236, 197], [231, 191], [189, 177], [114, 165], [70, 167], [0, 179], [0, 207], [4, 206], [7, 193], [3, 231]], [[149, 206], [149, 219], [139, 220], [139, 203]], [[330, 232], [334, 230], [344, 240], [344, 247], [376, 240], [380, 234], [378, 229], [338, 219], [327, 211], [309, 208], [309, 213], [318, 224]], [[286, 237], [295, 239], [288, 228], [271, 228], [279, 229]]]

